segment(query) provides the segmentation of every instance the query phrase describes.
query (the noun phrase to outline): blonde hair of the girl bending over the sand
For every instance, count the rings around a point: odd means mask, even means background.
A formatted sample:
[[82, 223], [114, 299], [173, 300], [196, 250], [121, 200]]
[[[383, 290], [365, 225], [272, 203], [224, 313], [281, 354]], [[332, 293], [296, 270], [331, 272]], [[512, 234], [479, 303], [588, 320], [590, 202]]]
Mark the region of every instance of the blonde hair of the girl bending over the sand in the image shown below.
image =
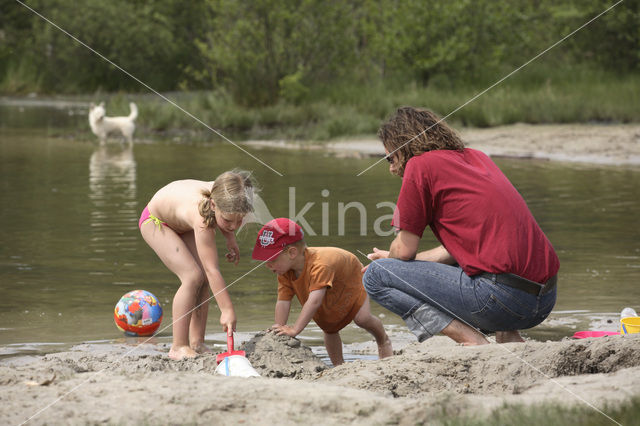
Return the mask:
[[218, 176], [211, 190], [202, 191], [203, 199], [198, 204], [200, 216], [204, 218], [207, 228], [215, 228], [216, 212], [247, 214], [253, 211], [253, 180], [251, 172], [233, 169]]

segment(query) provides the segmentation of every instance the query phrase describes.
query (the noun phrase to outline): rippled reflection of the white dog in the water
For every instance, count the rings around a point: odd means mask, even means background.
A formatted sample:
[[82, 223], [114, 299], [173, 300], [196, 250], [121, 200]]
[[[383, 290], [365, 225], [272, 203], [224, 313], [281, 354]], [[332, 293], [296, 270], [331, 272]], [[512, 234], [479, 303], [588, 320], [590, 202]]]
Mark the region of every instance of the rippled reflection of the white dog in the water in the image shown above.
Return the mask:
[[127, 252], [136, 250], [139, 215], [136, 196], [133, 147], [98, 146], [89, 160], [92, 204], [89, 260], [93, 265], [90, 273], [104, 276], [111, 284], [130, 284], [120, 280], [120, 272], [124, 267], [133, 266], [121, 259], [126, 258]]

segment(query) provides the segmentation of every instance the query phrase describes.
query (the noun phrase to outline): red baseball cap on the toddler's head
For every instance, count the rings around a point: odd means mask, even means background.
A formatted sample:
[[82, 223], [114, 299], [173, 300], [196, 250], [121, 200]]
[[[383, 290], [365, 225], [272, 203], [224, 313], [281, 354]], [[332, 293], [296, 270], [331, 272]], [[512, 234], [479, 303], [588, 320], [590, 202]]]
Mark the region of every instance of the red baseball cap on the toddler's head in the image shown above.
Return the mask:
[[251, 257], [256, 260], [274, 260], [289, 244], [304, 238], [302, 228], [286, 217], [279, 217], [267, 222], [258, 232], [256, 245]]

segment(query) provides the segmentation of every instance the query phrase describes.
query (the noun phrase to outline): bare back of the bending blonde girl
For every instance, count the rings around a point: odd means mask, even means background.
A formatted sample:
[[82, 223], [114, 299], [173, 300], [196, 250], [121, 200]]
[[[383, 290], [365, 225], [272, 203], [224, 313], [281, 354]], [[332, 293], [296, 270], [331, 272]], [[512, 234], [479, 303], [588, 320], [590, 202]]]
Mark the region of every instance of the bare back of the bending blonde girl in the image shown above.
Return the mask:
[[201, 220], [198, 203], [202, 191], [209, 191], [213, 181], [177, 180], [160, 188], [149, 201], [149, 212], [176, 232], [192, 230], [194, 223]]

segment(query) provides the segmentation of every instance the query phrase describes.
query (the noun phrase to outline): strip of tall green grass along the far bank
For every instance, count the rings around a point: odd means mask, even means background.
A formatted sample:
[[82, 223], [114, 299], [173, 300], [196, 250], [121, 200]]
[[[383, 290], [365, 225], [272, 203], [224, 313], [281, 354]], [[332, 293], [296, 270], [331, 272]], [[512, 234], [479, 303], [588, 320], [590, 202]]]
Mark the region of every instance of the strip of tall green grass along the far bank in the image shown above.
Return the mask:
[[[238, 105], [224, 91], [166, 94], [184, 110], [233, 140], [326, 141], [374, 135], [401, 105], [421, 106], [446, 116], [498, 81], [501, 75], [460, 83], [435, 76], [427, 86], [378, 82], [364, 86], [343, 82], [316, 87], [298, 104], [263, 107]], [[13, 74], [12, 74], [13, 75]], [[402, 79], [396, 79], [403, 81]], [[7, 83], [7, 82], [5, 82]], [[11, 80], [12, 85], [19, 85]], [[83, 97], [86, 99], [86, 96]], [[112, 115], [128, 114], [128, 102], [140, 108], [138, 134], [198, 135], [219, 139], [201, 123], [155, 94], [105, 96]], [[447, 118], [455, 127], [492, 127], [513, 123], [640, 122], [640, 74], [623, 76], [585, 67], [525, 68], [478, 96]]]

